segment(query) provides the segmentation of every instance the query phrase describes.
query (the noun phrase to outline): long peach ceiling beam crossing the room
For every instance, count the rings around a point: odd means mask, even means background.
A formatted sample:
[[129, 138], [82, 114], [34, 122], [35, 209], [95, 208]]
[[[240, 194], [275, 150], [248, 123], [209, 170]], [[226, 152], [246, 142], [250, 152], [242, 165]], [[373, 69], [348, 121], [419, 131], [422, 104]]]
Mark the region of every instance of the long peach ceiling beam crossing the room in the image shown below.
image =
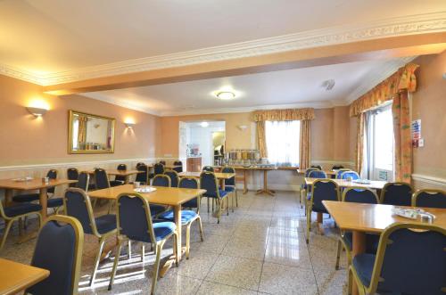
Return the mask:
[[226, 61], [204, 62], [182, 67], [147, 70], [111, 77], [44, 86], [47, 94], [65, 95], [136, 86], [151, 86], [206, 78], [221, 78], [274, 70], [290, 70], [351, 61], [370, 61], [402, 56], [442, 53], [446, 32], [387, 37], [270, 53]]

